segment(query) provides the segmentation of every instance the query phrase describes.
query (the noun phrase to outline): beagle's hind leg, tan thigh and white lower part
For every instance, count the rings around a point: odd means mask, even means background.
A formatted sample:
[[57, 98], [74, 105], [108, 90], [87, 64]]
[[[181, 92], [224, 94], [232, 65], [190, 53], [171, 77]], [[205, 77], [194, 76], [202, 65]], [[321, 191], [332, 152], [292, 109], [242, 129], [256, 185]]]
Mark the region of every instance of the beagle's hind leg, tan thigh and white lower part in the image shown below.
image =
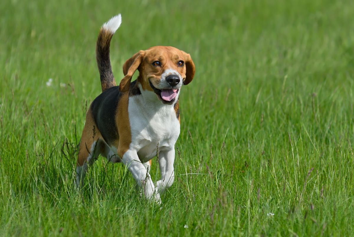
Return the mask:
[[86, 123], [79, 146], [79, 155], [76, 162], [76, 187], [84, 184], [87, 167], [97, 159], [103, 145], [102, 135], [93, 120], [91, 109], [86, 113]]

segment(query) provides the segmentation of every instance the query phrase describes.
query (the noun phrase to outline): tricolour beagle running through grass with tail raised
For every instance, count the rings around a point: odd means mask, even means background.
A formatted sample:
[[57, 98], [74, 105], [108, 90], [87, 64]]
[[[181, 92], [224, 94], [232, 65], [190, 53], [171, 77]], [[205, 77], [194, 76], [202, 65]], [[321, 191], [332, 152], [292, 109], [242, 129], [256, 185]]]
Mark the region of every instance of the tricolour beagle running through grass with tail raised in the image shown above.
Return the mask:
[[[170, 46], [155, 46], [137, 52], [124, 63], [124, 78], [116, 86], [109, 46], [120, 24], [119, 14], [104, 23], [98, 34], [96, 59], [102, 93], [86, 113], [76, 162], [76, 185], [83, 185], [87, 167], [101, 154], [110, 162], [122, 162], [144, 196], [160, 202], [160, 194], [174, 180], [179, 94], [182, 85], [192, 81], [195, 66], [189, 54]], [[139, 76], [131, 82], [136, 70]], [[149, 168], [157, 149], [161, 178], [154, 184]]]

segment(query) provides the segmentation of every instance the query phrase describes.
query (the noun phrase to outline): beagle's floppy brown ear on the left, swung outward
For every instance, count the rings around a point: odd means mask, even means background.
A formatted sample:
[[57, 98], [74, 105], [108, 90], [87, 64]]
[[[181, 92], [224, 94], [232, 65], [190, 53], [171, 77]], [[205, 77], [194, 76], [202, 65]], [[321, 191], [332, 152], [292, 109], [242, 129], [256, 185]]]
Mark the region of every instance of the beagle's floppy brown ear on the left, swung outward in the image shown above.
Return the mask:
[[145, 51], [141, 50], [134, 54], [130, 59], [126, 60], [123, 64], [123, 79], [120, 81], [119, 90], [125, 92], [129, 90], [130, 81], [134, 72], [138, 69], [141, 62], [143, 61]]

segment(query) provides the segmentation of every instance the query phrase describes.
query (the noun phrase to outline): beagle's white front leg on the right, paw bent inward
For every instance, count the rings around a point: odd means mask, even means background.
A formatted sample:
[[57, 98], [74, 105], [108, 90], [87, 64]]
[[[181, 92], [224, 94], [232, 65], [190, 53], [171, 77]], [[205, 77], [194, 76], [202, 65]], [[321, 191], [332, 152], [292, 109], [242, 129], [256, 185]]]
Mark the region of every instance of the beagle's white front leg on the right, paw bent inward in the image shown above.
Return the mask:
[[161, 179], [156, 182], [156, 189], [162, 194], [167, 188], [170, 188], [175, 180], [173, 163], [175, 162], [175, 148], [161, 151], [159, 153], [159, 166]]

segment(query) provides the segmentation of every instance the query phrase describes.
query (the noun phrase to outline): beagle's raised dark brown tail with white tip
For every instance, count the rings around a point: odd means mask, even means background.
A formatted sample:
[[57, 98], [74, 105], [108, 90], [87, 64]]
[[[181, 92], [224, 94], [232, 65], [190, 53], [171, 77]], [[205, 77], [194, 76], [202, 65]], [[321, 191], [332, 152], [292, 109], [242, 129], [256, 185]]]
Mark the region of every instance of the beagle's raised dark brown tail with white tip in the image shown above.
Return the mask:
[[102, 92], [116, 86], [109, 60], [109, 45], [114, 32], [119, 28], [121, 23], [122, 17], [118, 14], [104, 23], [99, 30], [96, 43], [96, 60], [99, 77], [101, 79]]

